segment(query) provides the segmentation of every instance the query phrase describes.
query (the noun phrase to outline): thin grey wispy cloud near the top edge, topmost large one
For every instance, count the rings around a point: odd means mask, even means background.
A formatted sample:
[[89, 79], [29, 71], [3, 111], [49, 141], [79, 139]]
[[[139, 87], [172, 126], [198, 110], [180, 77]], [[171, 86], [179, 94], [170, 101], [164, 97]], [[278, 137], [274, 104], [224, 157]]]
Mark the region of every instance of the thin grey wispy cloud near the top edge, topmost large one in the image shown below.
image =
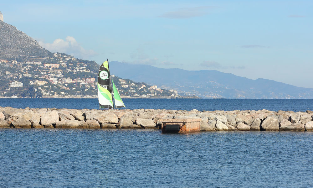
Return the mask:
[[212, 6], [203, 6], [203, 7], [193, 7], [193, 8], [180, 8], [177, 11], [167, 12], [162, 14], [159, 17], [162, 18], [174, 18], [174, 19], [184, 19], [199, 17], [208, 14], [209, 8]]

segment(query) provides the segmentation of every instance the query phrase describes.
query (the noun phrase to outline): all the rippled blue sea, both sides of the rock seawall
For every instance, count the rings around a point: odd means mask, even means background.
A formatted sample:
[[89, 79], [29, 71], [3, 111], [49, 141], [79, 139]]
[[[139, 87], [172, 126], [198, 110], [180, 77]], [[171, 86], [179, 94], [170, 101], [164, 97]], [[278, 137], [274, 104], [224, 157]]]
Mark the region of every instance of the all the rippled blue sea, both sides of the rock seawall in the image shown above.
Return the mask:
[[[313, 110], [311, 99], [124, 99], [130, 109]], [[0, 99], [97, 108], [97, 99]], [[0, 187], [313, 187], [313, 132], [0, 129]]]

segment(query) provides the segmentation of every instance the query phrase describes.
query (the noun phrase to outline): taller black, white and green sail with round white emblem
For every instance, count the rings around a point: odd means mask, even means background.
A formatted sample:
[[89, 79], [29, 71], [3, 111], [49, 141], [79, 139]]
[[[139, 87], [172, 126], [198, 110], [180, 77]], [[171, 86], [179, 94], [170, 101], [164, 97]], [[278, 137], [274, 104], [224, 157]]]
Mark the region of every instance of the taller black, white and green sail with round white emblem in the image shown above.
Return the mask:
[[100, 108], [113, 108], [108, 61], [102, 63], [98, 73], [98, 99]]

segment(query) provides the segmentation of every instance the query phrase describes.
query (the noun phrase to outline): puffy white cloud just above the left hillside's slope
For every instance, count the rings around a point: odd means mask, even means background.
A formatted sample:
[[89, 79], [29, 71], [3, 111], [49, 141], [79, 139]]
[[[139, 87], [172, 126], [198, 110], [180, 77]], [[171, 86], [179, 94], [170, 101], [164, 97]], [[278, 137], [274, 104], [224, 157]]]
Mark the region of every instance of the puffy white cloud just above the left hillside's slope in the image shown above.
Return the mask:
[[67, 36], [65, 40], [55, 39], [53, 43], [39, 41], [39, 44], [51, 52], [66, 53], [82, 59], [88, 59], [97, 55], [93, 50], [85, 50], [76, 39], [71, 36]]

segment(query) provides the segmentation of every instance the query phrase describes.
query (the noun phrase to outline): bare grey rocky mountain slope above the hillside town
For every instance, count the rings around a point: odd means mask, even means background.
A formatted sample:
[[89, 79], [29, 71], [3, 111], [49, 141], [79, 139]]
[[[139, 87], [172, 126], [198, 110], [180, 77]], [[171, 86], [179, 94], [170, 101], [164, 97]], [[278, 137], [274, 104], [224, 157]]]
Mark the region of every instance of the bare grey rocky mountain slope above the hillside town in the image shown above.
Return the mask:
[[16, 27], [0, 20], [0, 59], [51, 57], [52, 53]]

